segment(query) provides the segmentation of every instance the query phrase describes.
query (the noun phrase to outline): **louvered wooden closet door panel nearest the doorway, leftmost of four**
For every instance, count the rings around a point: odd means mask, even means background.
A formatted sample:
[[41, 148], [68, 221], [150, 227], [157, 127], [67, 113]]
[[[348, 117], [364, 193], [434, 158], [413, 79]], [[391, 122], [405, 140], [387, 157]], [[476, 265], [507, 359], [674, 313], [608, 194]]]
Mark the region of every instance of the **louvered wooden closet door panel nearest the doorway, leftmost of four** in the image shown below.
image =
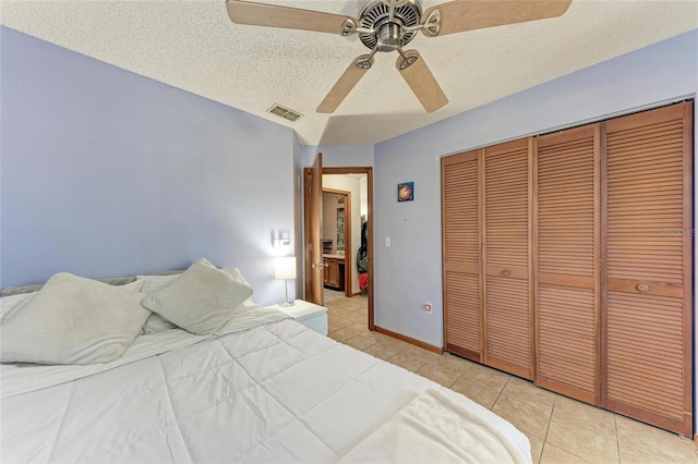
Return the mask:
[[482, 362], [478, 151], [442, 160], [444, 349]]

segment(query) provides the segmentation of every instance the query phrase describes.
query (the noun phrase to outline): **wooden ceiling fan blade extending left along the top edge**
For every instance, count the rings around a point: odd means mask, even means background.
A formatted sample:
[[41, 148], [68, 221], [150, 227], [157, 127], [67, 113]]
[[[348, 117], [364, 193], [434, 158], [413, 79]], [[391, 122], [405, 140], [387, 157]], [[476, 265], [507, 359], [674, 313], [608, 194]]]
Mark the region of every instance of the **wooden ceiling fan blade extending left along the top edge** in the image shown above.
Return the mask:
[[226, 0], [226, 9], [233, 23], [253, 26], [341, 34], [347, 21], [353, 23], [354, 29], [358, 24], [353, 17], [339, 14], [241, 0]]

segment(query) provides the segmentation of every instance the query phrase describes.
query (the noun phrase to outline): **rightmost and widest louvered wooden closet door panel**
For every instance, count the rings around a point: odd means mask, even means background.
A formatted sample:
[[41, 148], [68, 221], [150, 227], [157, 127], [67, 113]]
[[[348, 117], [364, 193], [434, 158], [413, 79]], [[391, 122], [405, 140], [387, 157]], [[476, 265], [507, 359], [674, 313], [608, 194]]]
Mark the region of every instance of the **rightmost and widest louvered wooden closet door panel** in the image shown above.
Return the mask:
[[604, 406], [691, 435], [691, 114], [606, 122]]

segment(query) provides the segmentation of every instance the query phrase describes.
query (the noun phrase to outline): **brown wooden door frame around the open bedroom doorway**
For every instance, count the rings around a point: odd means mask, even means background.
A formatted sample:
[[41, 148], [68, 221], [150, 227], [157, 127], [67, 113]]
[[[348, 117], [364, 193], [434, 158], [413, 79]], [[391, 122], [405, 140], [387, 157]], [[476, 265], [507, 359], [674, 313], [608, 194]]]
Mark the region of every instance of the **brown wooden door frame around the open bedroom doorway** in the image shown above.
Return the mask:
[[[308, 175], [308, 171], [312, 170], [312, 168], [304, 168], [304, 180], [305, 182], [309, 180], [309, 175]], [[366, 246], [368, 246], [368, 255], [369, 255], [369, 295], [368, 295], [368, 301], [369, 301], [369, 330], [375, 330], [375, 323], [374, 323], [374, 293], [375, 293], [375, 285], [374, 285], [374, 279], [373, 276], [375, 274], [374, 272], [374, 267], [373, 267], [373, 261], [374, 261], [374, 253], [373, 253], [373, 223], [374, 223], [374, 217], [373, 217], [373, 167], [338, 167], [338, 168], [325, 168], [322, 167], [321, 168], [321, 179], [322, 179], [322, 174], [366, 174], [366, 200], [368, 200], [368, 221], [369, 221], [369, 227], [368, 227], [368, 239], [366, 239]], [[308, 193], [310, 192], [309, 190], [309, 185], [303, 185], [303, 196], [306, 197]], [[322, 191], [322, 184], [321, 184], [321, 191]], [[303, 211], [303, 218], [304, 218], [304, 228], [303, 228], [303, 233], [310, 233], [310, 218], [313, 215], [313, 211], [309, 211], [308, 208], [311, 207], [310, 202], [308, 202], [306, 199], [304, 199], [303, 202], [303, 207], [304, 207], [304, 211]], [[304, 244], [308, 243], [306, 240], [303, 241]], [[306, 246], [306, 245], [304, 245]], [[303, 251], [303, 256], [306, 257], [308, 253], [306, 251]], [[352, 260], [353, 262], [353, 260]], [[305, 269], [309, 268], [311, 264], [310, 262], [305, 262]], [[352, 265], [353, 266], [353, 265]], [[308, 295], [309, 286], [309, 276], [305, 277], [305, 283], [306, 286], [304, 289], [304, 294]]]

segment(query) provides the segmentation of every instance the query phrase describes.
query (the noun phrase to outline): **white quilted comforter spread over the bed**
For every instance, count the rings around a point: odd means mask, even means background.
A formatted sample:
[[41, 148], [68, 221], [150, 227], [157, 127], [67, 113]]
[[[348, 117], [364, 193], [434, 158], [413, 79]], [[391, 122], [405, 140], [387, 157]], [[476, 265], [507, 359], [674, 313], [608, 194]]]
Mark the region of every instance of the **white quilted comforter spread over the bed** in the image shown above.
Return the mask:
[[108, 365], [3, 366], [1, 461], [530, 462], [467, 398], [251, 314], [216, 337], [142, 335]]

